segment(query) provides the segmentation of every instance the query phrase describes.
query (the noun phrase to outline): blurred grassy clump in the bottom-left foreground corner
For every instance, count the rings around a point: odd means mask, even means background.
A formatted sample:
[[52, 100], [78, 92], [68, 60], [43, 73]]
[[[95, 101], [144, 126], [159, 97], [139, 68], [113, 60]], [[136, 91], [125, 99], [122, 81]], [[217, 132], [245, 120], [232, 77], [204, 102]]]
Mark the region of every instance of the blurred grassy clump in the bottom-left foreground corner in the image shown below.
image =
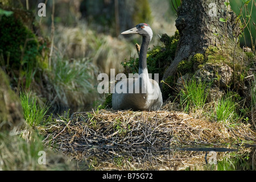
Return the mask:
[[[75, 165], [64, 155], [44, 145], [43, 137], [33, 131], [29, 142], [17, 135], [0, 133], [0, 169], [3, 171], [74, 170]], [[40, 164], [40, 151], [47, 154], [47, 165]]]

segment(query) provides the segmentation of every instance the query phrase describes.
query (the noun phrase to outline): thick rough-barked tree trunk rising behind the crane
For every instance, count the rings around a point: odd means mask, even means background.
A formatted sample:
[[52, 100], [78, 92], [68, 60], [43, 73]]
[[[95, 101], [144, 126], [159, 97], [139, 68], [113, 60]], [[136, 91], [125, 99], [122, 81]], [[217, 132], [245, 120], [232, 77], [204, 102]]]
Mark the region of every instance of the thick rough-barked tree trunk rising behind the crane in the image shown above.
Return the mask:
[[[226, 6], [227, 0], [183, 0], [177, 10], [176, 27], [180, 40], [175, 59], [164, 73], [163, 80], [174, 76], [180, 61], [187, 60], [196, 53], [205, 53], [209, 46], [223, 44], [218, 36], [224, 36], [229, 43], [233, 41], [233, 29], [236, 15]], [[221, 22], [220, 18], [228, 18]], [[214, 35], [215, 34], [215, 35]], [[219, 34], [216, 36], [216, 34]], [[232, 43], [234, 46], [234, 43]]]

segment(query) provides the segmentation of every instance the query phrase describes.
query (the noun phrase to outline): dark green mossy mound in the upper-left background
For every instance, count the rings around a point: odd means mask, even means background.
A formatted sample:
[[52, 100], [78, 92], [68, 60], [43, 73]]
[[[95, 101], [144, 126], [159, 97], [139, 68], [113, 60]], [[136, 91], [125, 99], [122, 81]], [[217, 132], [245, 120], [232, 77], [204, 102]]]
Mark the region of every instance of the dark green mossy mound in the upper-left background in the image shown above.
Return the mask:
[[47, 42], [42, 39], [39, 42], [30, 29], [34, 23], [31, 11], [6, 10], [12, 14], [0, 19], [0, 67], [13, 78], [12, 85], [29, 88], [34, 79], [41, 80], [42, 69], [48, 67]]

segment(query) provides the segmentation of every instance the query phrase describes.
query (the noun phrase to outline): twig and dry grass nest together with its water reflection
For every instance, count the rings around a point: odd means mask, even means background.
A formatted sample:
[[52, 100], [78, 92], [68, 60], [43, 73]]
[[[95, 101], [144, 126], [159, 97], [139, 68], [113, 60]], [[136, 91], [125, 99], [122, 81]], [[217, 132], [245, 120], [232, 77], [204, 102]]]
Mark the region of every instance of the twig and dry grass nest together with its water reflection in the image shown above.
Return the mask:
[[195, 164], [193, 160], [205, 164], [205, 152], [171, 148], [255, 138], [247, 125], [231, 129], [172, 111], [73, 113], [71, 119], [59, 118], [46, 127], [45, 143], [94, 169], [169, 170]]

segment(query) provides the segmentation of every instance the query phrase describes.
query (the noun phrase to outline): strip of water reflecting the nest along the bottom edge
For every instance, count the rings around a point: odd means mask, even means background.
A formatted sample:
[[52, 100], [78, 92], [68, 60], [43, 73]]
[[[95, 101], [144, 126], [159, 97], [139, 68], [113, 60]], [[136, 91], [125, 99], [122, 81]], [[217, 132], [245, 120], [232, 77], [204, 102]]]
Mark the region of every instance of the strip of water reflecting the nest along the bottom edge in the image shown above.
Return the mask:
[[114, 147], [68, 151], [81, 170], [255, 170], [255, 147]]

